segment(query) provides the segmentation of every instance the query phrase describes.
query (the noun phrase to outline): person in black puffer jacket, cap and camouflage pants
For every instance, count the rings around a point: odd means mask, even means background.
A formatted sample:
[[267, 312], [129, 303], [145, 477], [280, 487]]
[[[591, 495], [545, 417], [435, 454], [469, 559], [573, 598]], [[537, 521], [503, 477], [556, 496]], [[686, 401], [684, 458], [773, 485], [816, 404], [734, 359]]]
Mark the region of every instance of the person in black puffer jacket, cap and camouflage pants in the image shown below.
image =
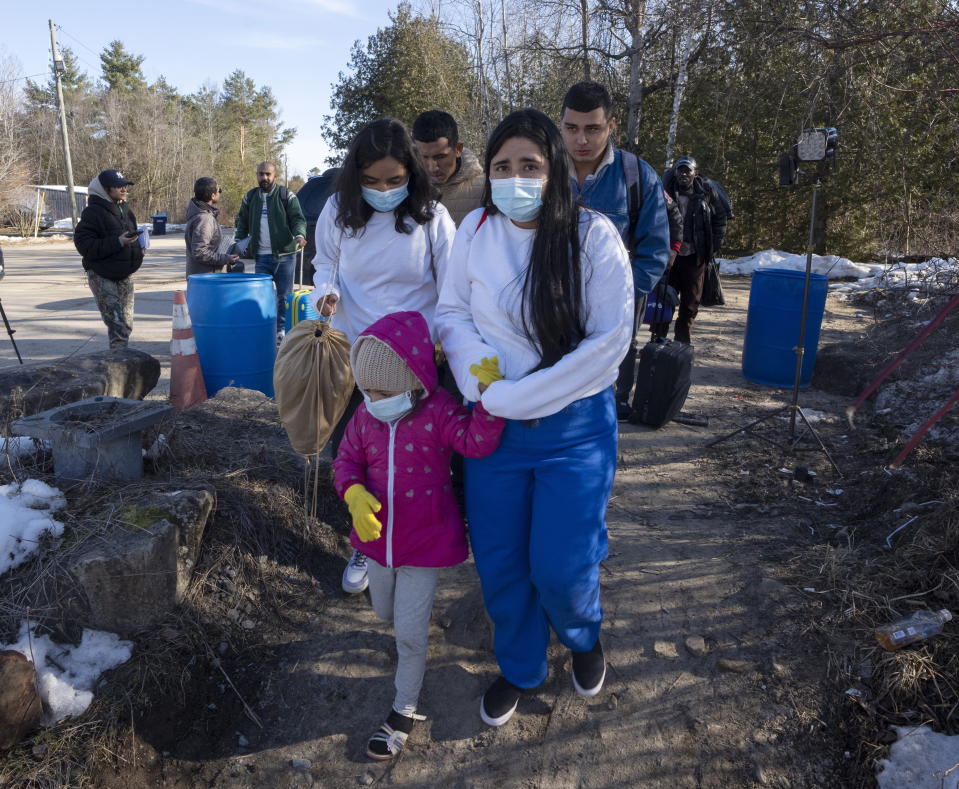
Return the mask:
[[73, 233], [111, 348], [125, 348], [133, 330], [133, 273], [143, 263], [137, 219], [127, 207], [128, 181], [104, 170], [90, 181], [87, 207]]

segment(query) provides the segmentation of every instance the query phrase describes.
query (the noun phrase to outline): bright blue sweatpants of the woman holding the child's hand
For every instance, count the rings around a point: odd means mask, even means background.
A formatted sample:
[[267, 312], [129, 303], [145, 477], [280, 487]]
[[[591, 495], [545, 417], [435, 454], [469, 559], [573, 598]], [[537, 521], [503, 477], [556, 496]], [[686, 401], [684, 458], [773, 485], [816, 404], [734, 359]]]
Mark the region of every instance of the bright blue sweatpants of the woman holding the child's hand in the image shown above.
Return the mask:
[[613, 389], [533, 423], [508, 420], [499, 448], [466, 459], [470, 543], [503, 676], [546, 679], [552, 625], [576, 652], [599, 637], [599, 563], [616, 472]]

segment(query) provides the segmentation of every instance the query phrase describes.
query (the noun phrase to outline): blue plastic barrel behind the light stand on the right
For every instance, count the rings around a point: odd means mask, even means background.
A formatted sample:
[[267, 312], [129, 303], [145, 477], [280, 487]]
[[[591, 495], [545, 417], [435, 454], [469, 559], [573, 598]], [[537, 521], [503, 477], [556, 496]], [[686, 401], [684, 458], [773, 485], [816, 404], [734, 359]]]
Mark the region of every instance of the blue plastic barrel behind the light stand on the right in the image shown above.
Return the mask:
[[[800, 386], [809, 386], [819, 347], [819, 329], [826, 309], [822, 274], [811, 274], [806, 308], [805, 353]], [[743, 340], [743, 377], [764, 386], [788, 388], [796, 379], [796, 346], [802, 315], [805, 272], [757, 269], [749, 289], [749, 312]]]

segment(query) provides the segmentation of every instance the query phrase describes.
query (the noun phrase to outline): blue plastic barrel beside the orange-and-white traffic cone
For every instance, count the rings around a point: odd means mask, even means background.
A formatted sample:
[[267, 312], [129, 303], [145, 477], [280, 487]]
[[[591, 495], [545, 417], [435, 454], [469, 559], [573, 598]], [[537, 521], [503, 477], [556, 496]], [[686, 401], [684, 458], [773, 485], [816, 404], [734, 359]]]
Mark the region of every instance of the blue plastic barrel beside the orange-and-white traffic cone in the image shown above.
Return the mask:
[[273, 397], [273, 278], [269, 274], [191, 274], [186, 303], [207, 394], [212, 397], [224, 386], [239, 386]]

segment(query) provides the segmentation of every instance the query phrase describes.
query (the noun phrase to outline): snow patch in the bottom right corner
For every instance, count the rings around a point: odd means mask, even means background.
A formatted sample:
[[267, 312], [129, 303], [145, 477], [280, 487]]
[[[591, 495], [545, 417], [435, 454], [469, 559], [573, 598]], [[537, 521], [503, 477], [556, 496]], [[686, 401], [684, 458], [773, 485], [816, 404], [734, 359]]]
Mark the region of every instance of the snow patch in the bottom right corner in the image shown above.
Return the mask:
[[879, 789], [956, 789], [959, 787], [959, 736], [928, 726], [894, 726], [899, 739], [889, 758], [877, 764]]

